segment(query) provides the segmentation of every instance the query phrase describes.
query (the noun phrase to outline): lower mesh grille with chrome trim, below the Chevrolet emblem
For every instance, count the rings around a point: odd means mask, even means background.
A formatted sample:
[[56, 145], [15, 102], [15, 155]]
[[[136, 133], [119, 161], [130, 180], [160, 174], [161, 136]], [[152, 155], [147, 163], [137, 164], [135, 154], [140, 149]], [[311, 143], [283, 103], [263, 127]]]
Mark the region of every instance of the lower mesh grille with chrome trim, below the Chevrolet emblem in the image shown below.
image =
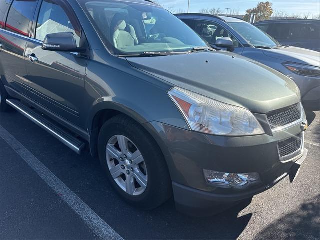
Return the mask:
[[278, 151], [280, 159], [283, 161], [298, 155], [302, 150], [304, 140], [303, 138], [303, 133], [300, 133], [299, 135], [293, 136], [285, 141], [279, 142]]

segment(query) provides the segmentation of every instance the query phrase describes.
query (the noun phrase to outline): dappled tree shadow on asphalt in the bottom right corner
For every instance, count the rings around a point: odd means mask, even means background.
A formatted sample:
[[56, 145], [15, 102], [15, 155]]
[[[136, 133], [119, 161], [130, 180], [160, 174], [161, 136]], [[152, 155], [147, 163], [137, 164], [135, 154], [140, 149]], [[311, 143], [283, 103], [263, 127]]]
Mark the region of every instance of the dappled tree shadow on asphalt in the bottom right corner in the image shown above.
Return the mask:
[[256, 239], [319, 239], [320, 195], [305, 201], [291, 212], [260, 232]]

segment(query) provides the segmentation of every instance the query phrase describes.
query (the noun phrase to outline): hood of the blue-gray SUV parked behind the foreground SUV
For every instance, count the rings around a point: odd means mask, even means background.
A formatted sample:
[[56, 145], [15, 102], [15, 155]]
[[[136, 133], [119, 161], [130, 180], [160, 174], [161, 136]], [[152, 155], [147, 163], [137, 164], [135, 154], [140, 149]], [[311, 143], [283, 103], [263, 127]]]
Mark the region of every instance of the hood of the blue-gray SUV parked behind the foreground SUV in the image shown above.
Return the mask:
[[276, 48], [263, 50], [266, 56], [280, 59], [287, 62], [307, 64], [320, 67], [320, 52], [312, 51], [299, 47]]

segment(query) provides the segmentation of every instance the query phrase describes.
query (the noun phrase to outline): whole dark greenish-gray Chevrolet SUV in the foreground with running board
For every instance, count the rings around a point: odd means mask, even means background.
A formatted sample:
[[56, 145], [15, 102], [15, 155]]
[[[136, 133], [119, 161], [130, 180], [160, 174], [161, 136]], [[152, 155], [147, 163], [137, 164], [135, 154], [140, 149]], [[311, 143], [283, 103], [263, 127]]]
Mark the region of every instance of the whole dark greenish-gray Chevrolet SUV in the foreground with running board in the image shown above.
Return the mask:
[[211, 214], [297, 176], [307, 122], [283, 74], [210, 48], [149, 1], [0, 9], [1, 114], [16, 109], [76, 153], [88, 145], [130, 204], [173, 195]]

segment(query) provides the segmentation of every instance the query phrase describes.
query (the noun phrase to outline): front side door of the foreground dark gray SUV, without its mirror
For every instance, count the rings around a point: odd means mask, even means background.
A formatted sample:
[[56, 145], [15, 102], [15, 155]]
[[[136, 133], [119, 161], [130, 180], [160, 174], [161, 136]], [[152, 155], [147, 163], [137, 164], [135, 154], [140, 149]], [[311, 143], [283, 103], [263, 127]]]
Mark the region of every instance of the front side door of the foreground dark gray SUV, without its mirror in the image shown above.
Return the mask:
[[58, 119], [62, 117], [81, 126], [83, 122], [79, 116], [83, 112], [87, 57], [41, 48], [44, 37], [57, 32], [72, 32], [77, 46], [85, 47], [86, 39], [78, 19], [65, 0], [41, 1], [34, 19], [32, 36], [25, 52], [26, 56], [36, 59], [26, 62], [32, 99]]

